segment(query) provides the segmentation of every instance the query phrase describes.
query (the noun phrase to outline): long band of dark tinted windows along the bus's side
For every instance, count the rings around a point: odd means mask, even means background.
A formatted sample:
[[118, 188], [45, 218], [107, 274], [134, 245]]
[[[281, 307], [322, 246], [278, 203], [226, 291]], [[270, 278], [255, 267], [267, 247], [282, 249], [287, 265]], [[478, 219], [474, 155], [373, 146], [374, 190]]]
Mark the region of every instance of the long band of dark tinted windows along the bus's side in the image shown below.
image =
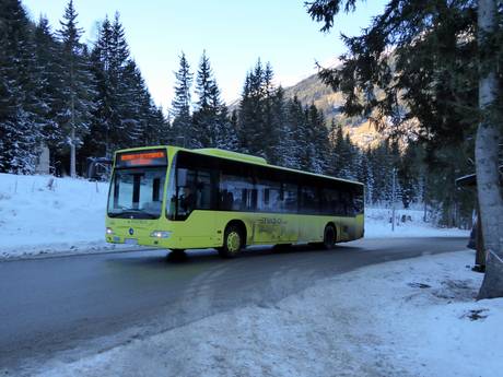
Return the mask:
[[[341, 216], [363, 213], [362, 185], [185, 151], [175, 160], [185, 178], [180, 177], [176, 187], [169, 178], [167, 193], [173, 202], [167, 201], [166, 212], [173, 220], [185, 220], [194, 209]], [[162, 187], [162, 181], [153, 181], [154, 188], [157, 185]], [[174, 215], [175, 204], [179, 216]]]

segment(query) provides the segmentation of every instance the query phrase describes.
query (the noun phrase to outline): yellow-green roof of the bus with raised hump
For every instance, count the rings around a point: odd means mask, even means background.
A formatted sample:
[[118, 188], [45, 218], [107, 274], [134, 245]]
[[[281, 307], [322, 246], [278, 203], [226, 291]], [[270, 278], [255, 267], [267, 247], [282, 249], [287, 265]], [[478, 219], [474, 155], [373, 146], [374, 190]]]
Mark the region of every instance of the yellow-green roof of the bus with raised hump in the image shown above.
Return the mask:
[[203, 148], [203, 149], [190, 150], [190, 149], [187, 149], [187, 148], [174, 146], [174, 145], [153, 145], [153, 146], [130, 148], [130, 149], [116, 151], [115, 153], [131, 152], [131, 151], [147, 151], [147, 150], [153, 150], [153, 149], [167, 149], [173, 154], [175, 152], [177, 152], [177, 151], [185, 151], [185, 152], [190, 152], [190, 153], [196, 153], [196, 154], [210, 155], [210, 156], [214, 156], [214, 157], [233, 160], [233, 161], [238, 161], [238, 162], [254, 164], [254, 165], [272, 167], [272, 168], [277, 168], [277, 169], [281, 169], [281, 170], [285, 170], [285, 172], [292, 172], [292, 173], [297, 173], [297, 174], [303, 174], [303, 175], [309, 175], [309, 176], [313, 176], [313, 177], [323, 177], [323, 178], [328, 178], [328, 179], [335, 179], [335, 180], [340, 180], [340, 181], [344, 181], [344, 182], [352, 184], [352, 185], [362, 185], [363, 186], [362, 182], [359, 182], [359, 181], [355, 181], [355, 180], [337, 178], [337, 177], [331, 177], [331, 176], [327, 176], [327, 175], [324, 175], [324, 174], [303, 172], [303, 170], [292, 169], [290, 167], [272, 165], [272, 164], [268, 164], [266, 158], [264, 158], [264, 157], [254, 156], [252, 154], [245, 154], [245, 153], [237, 153], [237, 152], [232, 152], [232, 151], [220, 150], [220, 149], [217, 149], [217, 148]]

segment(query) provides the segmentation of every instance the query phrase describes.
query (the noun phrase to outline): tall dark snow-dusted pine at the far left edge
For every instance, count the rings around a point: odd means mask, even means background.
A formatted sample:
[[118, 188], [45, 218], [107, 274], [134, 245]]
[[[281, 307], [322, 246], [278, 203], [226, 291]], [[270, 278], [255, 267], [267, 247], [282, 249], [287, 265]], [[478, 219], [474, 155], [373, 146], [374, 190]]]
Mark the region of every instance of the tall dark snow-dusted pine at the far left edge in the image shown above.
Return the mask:
[[0, 2], [0, 170], [32, 173], [43, 106], [35, 96], [35, 47], [17, 0]]

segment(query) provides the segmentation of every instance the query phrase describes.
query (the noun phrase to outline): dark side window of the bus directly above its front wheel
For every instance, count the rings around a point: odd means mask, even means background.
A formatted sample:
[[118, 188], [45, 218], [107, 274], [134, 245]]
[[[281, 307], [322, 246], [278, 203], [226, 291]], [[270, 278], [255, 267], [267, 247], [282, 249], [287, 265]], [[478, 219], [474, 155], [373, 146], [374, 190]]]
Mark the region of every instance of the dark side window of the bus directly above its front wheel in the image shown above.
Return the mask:
[[250, 177], [220, 176], [220, 209], [223, 211], [253, 211], [257, 193]]

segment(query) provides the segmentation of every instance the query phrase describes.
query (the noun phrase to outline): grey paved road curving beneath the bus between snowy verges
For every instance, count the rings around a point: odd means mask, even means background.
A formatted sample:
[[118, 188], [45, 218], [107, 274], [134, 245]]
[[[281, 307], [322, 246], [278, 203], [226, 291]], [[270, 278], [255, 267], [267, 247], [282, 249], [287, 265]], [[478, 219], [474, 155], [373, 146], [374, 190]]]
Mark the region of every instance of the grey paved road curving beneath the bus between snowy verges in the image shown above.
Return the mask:
[[390, 238], [329, 251], [262, 247], [233, 260], [203, 250], [173, 262], [150, 250], [0, 262], [0, 375], [33, 373], [54, 356], [71, 361], [235, 307], [268, 306], [362, 266], [465, 245]]

